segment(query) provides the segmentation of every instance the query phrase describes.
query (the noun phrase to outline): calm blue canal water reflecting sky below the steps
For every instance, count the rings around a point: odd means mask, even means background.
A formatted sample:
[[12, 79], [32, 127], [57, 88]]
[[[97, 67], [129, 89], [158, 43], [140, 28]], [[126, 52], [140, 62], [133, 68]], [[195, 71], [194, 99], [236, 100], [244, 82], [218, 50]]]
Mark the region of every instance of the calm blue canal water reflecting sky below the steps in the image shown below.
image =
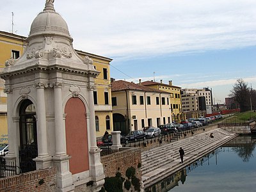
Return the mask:
[[146, 192], [256, 191], [256, 138], [239, 136]]

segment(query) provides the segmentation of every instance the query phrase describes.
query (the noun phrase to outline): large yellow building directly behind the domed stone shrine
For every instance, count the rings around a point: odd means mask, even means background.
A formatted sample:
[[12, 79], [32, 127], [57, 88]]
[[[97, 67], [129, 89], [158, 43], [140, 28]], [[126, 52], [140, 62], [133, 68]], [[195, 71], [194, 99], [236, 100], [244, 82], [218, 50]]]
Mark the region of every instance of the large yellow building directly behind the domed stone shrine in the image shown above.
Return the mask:
[[[10, 58], [17, 59], [26, 49], [26, 37], [0, 31], [0, 70], [5, 67], [5, 61]], [[97, 137], [103, 136], [104, 132], [113, 131], [111, 86], [110, 86], [110, 58], [77, 51], [79, 56], [88, 56], [93, 60], [93, 65], [100, 72], [95, 79], [95, 124]], [[4, 81], [0, 79], [0, 143], [7, 143], [7, 105], [4, 93]]]

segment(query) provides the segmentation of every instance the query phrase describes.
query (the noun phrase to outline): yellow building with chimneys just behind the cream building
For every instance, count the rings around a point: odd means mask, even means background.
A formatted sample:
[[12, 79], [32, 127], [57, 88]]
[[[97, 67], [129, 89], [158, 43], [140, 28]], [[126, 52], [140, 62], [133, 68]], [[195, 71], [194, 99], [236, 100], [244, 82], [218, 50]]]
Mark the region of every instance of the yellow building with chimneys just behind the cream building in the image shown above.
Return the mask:
[[172, 110], [172, 122], [180, 122], [182, 119], [186, 119], [186, 115], [182, 113], [180, 87], [173, 86], [172, 81], [169, 84], [164, 84], [161, 80], [160, 83], [155, 81], [144, 81], [140, 84], [170, 93], [170, 108]]

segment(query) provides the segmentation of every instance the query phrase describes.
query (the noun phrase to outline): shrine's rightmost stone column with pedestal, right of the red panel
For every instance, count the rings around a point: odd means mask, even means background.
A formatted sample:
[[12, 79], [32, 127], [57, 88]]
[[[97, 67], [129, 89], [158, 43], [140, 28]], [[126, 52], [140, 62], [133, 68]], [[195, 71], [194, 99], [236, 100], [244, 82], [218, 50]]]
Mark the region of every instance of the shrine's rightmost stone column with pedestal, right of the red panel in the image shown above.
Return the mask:
[[90, 86], [88, 91], [88, 103], [89, 103], [89, 111], [90, 115], [87, 118], [90, 118], [88, 121], [88, 128], [89, 128], [89, 135], [90, 137], [90, 174], [92, 180], [94, 182], [95, 191], [99, 191], [99, 189], [104, 184], [104, 170], [103, 165], [100, 163], [100, 148], [97, 147], [96, 142], [96, 130], [95, 130], [95, 109], [94, 109], [94, 102], [93, 102], [93, 90], [94, 87]]

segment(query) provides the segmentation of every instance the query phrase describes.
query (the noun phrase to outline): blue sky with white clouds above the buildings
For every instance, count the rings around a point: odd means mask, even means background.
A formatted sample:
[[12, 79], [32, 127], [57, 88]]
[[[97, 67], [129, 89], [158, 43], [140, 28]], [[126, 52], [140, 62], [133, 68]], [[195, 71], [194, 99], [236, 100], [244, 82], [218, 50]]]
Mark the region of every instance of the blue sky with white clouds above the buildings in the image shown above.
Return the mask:
[[[44, 4], [1, 3], [0, 31], [28, 36]], [[116, 80], [208, 87], [214, 104], [237, 79], [256, 89], [255, 0], [55, 0], [54, 8], [75, 49], [113, 59]]]

